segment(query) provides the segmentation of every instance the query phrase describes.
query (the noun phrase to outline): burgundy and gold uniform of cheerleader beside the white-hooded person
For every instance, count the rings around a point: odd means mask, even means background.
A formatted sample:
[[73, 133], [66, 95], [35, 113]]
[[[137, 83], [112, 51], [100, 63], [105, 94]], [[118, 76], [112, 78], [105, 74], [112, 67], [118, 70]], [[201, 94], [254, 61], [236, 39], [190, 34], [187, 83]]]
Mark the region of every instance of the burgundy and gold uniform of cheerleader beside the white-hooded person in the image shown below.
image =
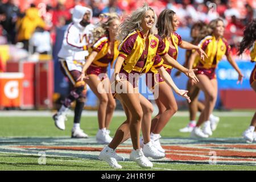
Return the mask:
[[[117, 59], [118, 56], [118, 45], [119, 42], [115, 40], [114, 42], [114, 51], [110, 54], [109, 51], [109, 38], [108, 36], [103, 36], [100, 38], [92, 47], [93, 51], [98, 52], [97, 56], [93, 60], [92, 64], [86, 71], [86, 75], [97, 75], [99, 76], [102, 73], [105, 73], [105, 77], [107, 77], [107, 68], [109, 63], [111, 66], [114, 63], [114, 60]], [[104, 75], [104, 74], [102, 74]], [[102, 76], [101, 75], [101, 76]]]

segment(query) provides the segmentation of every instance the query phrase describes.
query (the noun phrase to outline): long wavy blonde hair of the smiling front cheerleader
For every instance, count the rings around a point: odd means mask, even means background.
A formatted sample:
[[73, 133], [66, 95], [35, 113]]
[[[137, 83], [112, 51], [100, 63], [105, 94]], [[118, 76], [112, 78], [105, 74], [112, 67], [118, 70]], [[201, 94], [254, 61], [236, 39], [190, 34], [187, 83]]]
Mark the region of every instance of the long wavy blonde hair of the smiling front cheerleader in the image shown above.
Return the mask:
[[122, 42], [122, 40], [125, 39], [127, 35], [129, 35], [134, 30], [137, 30], [140, 27], [142, 19], [144, 18], [148, 10], [153, 11], [155, 15], [155, 21], [150, 30], [150, 34], [157, 34], [158, 32], [156, 29], [157, 16], [155, 14], [155, 11], [152, 9], [152, 7], [149, 7], [147, 3], [144, 3], [144, 5], [141, 8], [139, 8], [136, 11], [133, 11], [133, 13], [130, 16], [127, 16], [123, 21], [123, 23], [119, 25], [118, 35], [116, 39]]

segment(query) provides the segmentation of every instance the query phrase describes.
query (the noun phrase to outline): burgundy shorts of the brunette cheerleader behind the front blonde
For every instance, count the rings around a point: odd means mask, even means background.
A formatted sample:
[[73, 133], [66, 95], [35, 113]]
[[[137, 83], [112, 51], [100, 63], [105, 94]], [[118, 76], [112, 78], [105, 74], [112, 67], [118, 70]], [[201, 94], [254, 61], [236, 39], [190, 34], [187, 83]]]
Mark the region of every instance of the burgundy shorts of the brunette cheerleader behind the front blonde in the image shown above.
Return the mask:
[[[171, 75], [172, 69], [165, 68], [166, 71]], [[146, 74], [146, 85], [150, 89], [154, 89], [156, 84], [164, 82], [164, 79], [159, 75], [159, 73], [147, 72]]]

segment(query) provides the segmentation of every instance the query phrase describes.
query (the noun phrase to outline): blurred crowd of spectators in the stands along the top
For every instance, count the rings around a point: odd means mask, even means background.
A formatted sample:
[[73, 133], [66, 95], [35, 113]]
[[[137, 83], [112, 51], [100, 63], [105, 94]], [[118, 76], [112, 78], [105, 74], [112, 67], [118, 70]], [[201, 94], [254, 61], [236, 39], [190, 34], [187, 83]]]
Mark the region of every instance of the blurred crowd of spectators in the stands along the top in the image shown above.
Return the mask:
[[[243, 28], [256, 18], [256, 0], [146, 0], [159, 14], [164, 9], [176, 12], [181, 27], [192, 27], [203, 20], [220, 16], [225, 20], [225, 38], [236, 52]], [[71, 22], [76, 5], [93, 10], [93, 22], [101, 13], [117, 12], [121, 17], [142, 6], [137, 0], [0, 0], [0, 44], [22, 43], [22, 47], [39, 53], [51, 53], [56, 28]], [[40, 39], [39, 39], [40, 38]], [[40, 47], [39, 47], [40, 46]], [[37, 47], [37, 48], [36, 48]]]

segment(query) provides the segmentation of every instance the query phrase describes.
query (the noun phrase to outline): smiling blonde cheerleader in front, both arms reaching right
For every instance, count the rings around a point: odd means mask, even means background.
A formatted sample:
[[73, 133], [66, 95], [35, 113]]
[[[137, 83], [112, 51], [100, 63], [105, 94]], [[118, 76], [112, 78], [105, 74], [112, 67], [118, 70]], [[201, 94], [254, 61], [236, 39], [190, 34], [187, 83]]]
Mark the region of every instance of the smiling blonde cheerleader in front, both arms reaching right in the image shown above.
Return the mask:
[[[151, 118], [143, 119], [143, 115], [152, 114], [152, 105], [138, 92], [138, 78], [142, 73], [147, 73], [154, 67], [172, 86], [177, 94], [189, 100], [187, 90], [180, 90], [176, 87], [163, 68], [161, 57], [173, 67], [179, 69], [187, 76], [198, 81], [194, 70], [188, 70], [172, 59], [166, 52], [166, 46], [160, 36], [156, 35], [156, 14], [155, 11], [144, 5], [128, 16], [119, 26], [118, 39], [123, 40], [119, 46], [119, 55], [115, 63], [114, 89], [127, 109], [127, 119], [117, 129], [112, 142], [100, 153], [99, 158], [114, 168], [122, 168], [115, 159], [115, 148], [122, 143], [127, 136], [131, 136], [133, 150], [130, 159], [144, 168], [152, 168], [153, 164], [146, 158], [144, 153], [160, 154], [150, 141]], [[144, 138], [143, 150], [139, 145], [139, 134], [142, 127]], [[154, 150], [154, 151], [153, 151]], [[161, 156], [159, 156], [160, 158]]]

